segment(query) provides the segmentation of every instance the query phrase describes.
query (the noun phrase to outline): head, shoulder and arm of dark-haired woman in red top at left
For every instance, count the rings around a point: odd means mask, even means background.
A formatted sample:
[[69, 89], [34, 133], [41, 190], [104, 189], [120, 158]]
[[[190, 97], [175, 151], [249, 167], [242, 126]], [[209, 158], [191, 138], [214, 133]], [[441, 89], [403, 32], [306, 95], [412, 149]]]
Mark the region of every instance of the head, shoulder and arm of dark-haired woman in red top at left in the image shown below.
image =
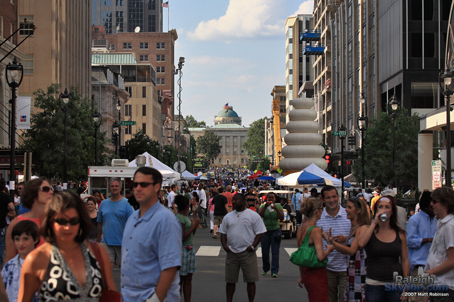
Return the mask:
[[[23, 207], [29, 208], [30, 211], [17, 216], [11, 221], [9, 225], [6, 234], [5, 262], [9, 261], [17, 255], [16, 246], [14, 245], [13, 239], [11, 238], [11, 232], [13, 231], [16, 223], [22, 220], [31, 220], [37, 225], [40, 225], [44, 207], [50, 201], [52, 195], [53, 188], [44, 177], [33, 179], [25, 183], [24, 189], [21, 193], [21, 204]], [[41, 237], [38, 246], [43, 243], [44, 239]]]

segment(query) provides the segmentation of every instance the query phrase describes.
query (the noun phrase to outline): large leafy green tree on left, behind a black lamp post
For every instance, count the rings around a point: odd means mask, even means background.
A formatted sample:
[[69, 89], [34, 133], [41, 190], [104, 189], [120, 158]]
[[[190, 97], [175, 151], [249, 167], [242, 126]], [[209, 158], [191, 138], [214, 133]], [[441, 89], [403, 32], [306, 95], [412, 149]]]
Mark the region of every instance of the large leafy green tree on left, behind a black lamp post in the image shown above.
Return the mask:
[[[33, 153], [33, 173], [47, 178], [63, 178], [64, 113], [59, 106], [61, 86], [52, 84], [46, 91], [33, 93], [34, 106], [38, 109], [31, 116], [31, 128], [24, 134], [21, 152]], [[68, 180], [87, 178], [87, 166], [95, 164], [94, 128], [91, 101], [83, 99], [77, 88], [71, 87], [73, 96], [68, 110]], [[98, 133], [98, 165], [108, 164], [108, 139], [105, 132]]]

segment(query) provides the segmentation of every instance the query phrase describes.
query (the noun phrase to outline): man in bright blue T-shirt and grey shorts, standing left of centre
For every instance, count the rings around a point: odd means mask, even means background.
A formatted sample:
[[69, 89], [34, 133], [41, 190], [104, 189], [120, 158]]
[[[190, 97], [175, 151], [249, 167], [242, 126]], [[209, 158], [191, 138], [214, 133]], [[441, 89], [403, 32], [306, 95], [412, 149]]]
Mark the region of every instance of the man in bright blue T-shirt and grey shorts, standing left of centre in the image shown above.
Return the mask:
[[126, 221], [134, 212], [128, 199], [121, 195], [122, 181], [117, 177], [109, 180], [110, 198], [99, 204], [98, 211], [98, 238], [97, 242], [104, 245], [110, 257], [111, 268], [113, 264], [121, 266], [122, 239]]

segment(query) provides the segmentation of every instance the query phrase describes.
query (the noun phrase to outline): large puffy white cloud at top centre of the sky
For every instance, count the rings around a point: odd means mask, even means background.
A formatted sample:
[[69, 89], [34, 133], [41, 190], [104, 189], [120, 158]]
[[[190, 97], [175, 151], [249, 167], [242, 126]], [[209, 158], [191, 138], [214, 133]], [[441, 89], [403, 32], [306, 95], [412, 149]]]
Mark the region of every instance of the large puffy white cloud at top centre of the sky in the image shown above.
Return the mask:
[[231, 42], [237, 38], [282, 34], [285, 21], [275, 20], [279, 2], [274, 0], [230, 0], [224, 16], [202, 21], [188, 33], [193, 41]]

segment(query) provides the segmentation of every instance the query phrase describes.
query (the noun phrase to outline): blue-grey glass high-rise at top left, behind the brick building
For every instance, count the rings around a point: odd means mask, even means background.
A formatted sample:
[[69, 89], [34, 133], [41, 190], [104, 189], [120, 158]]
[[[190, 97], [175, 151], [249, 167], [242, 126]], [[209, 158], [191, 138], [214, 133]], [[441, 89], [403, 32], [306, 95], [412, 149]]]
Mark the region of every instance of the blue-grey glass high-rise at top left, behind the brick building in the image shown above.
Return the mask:
[[91, 25], [106, 34], [162, 32], [162, 0], [92, 0]]

